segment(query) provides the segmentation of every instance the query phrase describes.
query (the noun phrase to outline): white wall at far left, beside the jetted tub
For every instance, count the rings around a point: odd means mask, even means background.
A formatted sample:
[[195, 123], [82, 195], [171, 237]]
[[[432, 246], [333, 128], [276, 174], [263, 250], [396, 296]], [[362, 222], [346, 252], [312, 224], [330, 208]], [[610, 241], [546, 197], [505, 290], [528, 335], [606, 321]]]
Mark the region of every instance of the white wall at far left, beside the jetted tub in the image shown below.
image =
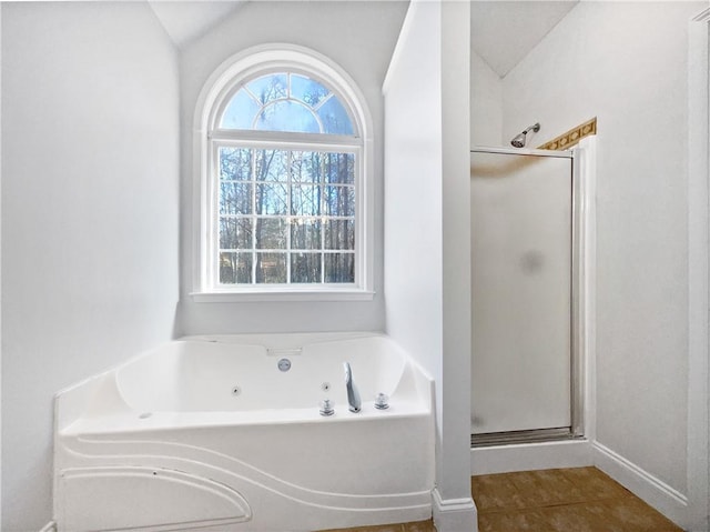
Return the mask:
[[145, 3], [2, 4], [3, 531], [52, 516], [52, 395], [172, 337], [178, 101]]

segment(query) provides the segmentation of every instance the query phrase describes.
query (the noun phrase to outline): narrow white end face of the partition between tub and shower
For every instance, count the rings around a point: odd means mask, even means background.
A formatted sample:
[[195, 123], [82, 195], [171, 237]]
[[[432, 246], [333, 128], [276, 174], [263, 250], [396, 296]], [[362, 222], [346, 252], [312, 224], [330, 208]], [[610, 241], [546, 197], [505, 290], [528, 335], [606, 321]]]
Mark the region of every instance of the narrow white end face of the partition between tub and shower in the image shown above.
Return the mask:
[[[443, 480], [444, 500], [470, 499], [470, 7], [442, 2]], [[452, 509], [453, 510], [453, 509]], [[474, 518], [474, 522], [466, 519]], [[454, 524], [454, 521], [452, 521]], [[439, 531], [447, 529], [439, 526]], [[462, 530], [452, 528], [448, 530]], [[468, 530], [468, 528], [464, 529]]]

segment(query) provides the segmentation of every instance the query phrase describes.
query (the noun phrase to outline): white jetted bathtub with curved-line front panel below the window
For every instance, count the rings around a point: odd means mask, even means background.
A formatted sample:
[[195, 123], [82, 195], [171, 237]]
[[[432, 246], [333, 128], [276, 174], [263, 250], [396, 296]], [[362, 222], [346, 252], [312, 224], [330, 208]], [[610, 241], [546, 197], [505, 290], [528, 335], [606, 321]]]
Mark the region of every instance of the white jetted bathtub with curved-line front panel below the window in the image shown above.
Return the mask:
[[[348, 411], [344, 362], [358, 413]], [[58, 393], [58, 530], [283, 532], [428, 519], [433, 385], [379, 334], [168, 343]], [[389, 408], [375, 408], [378, 393]], [[333, 415], [321, 415], [324, 399]]]

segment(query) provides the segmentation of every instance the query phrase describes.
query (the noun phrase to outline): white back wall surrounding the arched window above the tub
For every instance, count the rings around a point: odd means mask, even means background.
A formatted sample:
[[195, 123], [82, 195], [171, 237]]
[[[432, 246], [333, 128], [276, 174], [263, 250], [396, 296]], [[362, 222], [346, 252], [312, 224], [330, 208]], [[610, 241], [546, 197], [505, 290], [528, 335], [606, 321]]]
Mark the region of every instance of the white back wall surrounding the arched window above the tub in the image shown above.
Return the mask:
[[192, 271], [182, 271], [181, 323], [186, 334], [374, 330], [385, 328], [383, 297], [383, 99], [385, 71], [406, 2], [250, 2], [181, 56], [183, 263], [193, 264], [193, 118], [200, 90], [235, 53], [257, 44], [310, 48], [339, 64], [365, 96], [374, 122], [375, 298], [365, 302], [195, 303]]

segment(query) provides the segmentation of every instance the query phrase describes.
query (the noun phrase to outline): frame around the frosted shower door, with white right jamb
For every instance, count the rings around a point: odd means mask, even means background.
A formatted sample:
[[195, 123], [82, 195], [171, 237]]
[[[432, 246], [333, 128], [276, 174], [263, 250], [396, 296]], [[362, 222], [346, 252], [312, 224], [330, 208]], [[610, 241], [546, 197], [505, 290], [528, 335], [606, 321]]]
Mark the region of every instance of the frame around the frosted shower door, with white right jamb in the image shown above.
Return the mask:
[[[590, 298], [594, 282], [594, 150], [595, 138], [582, 139], [568, 151], [507, 149], [474, 147], [474, 153], [529, 155], [570, 160], [571, 181], [571, 241], [570, 241], [570, 426], [534, 429], [524, 431], [471, 434], [470, 446], [538, 443], [560, 440], [579, 440], [589, 436], [591, 429], [590, 378], [592, 364], [589, 354], [594, 350], [594, 300]], [[473, 267], [473, 264], [471, 264]], [[473, 359], [471, 359], [473, 363]]]

